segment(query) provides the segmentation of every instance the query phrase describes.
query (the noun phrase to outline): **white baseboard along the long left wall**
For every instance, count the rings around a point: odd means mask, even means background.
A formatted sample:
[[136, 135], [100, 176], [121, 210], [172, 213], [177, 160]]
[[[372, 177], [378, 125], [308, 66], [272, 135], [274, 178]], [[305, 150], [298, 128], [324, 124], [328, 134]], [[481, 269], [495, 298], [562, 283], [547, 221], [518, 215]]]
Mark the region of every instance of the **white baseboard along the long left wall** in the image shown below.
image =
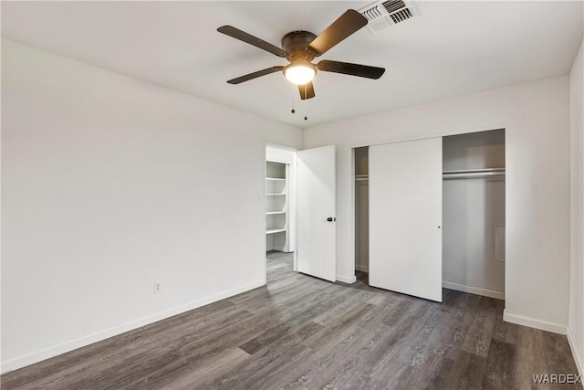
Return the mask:
[[240, 287], [238, 289], [228, 290], [221, 292], [219, 294], [215, 294], [211, 297], [204, 298], [203, 300], [195, 300], [193, 302], [186, 303], [184, 305], [169, 309], [167, 311], [161, 311], [159, 313], [143, 317], [139, 320], [126, 322], [121, 324], [120, 326], [114, 326], [100, 332], [95, 332], [92, 334], [88, 334], [87, 336], [79, 337], [78, 339], [53, 345], [44, 350], [36, 351], [35, 353], [28, 353], [24, 356], [17, 357], [15, 359], [10, 359], [6, 362], [2, 362], [2, 364], [0, 364], [0, 373], [5, 374], [22, 367], [26, 367], [26, 365], [41, 362], [48, 358], [57, 356], [61, 353], [67, 353], [69, 351], [73, 351], [75, 349], [87, 346], [91, 343], [97, 343], [110, 337], [117, 336], [123, 332], [132, 331], [134, 329], [140, 328], [141, 326], [151, 324], [152, 322], [161, 321], [166, 318], [172, 317], [173, 315], [181, 314], [185, 311], [191, 311], [193, 309], [200, 308], [210, 303], [214, 303], [217, 300], [224, 300], [225, 298], [233, 297], [234, 295], [241, 294], [242, 292], [253, 290], [265, 285], [266, 281], [262, 280], [253, 284]]

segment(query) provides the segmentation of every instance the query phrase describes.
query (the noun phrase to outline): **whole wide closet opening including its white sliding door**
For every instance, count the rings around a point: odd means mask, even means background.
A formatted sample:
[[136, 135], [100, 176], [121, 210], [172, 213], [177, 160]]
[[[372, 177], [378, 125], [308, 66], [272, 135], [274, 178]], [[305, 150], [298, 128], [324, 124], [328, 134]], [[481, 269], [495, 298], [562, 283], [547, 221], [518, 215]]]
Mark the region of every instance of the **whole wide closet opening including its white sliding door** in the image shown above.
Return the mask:
[[505, 299], [505, 130], [353, 149], [355, 273], [442, 301]]

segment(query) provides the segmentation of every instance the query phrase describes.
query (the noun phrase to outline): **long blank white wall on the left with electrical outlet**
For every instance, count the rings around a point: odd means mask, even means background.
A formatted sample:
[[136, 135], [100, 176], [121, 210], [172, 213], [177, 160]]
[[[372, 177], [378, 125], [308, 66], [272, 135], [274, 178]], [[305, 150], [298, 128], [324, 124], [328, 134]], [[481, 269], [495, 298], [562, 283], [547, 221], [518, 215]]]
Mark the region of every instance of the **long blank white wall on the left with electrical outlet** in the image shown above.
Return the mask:
[[299, 129], [4, 39], [2, 114], [4, 372], [265, 283]]

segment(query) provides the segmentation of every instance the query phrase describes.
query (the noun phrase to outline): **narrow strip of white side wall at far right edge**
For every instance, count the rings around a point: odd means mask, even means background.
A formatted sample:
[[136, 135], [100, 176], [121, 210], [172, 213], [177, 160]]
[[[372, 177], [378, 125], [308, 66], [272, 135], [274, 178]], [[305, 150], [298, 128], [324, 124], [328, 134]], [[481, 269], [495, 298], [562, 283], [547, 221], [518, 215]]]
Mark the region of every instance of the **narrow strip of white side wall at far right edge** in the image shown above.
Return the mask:
[[582, 45], [569, 73], [571, 129], [571, 267], [568, 341], [584, 374], [584, 61]]

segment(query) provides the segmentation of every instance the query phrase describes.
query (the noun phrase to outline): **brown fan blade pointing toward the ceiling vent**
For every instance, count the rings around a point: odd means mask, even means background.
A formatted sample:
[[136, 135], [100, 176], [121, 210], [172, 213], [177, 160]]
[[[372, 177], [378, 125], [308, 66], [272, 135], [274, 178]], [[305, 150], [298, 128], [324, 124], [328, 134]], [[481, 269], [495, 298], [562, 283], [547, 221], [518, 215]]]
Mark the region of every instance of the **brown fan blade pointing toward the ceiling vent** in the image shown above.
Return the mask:
[[340, 41], [359, 31], [367, 25], [367, 18], [360, 15], [354, 9], [348, 9], [339, 19], [332, 22], [318, 37], [316, 37], [308, 49], [315, 57], [322, 56], [329, 48], [334, 47]]

